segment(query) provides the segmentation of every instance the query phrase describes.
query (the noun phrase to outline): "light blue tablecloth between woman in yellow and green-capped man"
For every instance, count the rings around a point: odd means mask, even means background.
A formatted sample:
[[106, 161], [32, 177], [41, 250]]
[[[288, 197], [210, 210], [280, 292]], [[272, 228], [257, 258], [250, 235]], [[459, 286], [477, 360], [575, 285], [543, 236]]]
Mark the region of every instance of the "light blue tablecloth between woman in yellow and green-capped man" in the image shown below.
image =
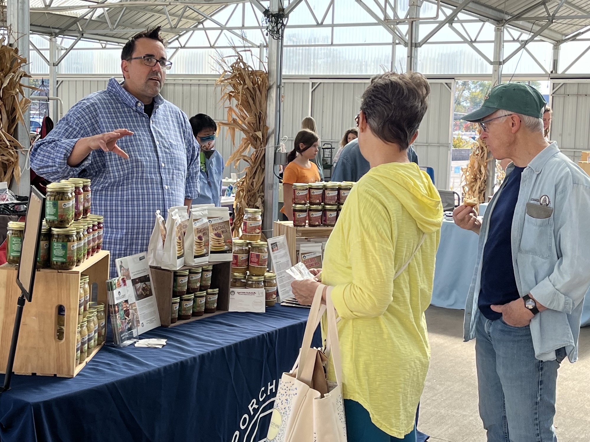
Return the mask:
[[[477, 260], [479, 236], [444, 220], [434, 271], [431, 304], [437, 307], [464, 309]], [[590, 300], [582, 311], [582, 326], [590, 325]]]

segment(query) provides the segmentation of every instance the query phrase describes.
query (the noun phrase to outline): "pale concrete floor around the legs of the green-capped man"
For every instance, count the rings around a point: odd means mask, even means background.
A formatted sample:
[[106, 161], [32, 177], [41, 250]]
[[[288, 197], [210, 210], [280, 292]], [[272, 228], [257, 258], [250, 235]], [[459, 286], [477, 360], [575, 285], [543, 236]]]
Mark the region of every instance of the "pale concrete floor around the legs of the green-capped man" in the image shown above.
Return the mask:
[[[463, 310], [426, 311], [432, 357], [418, 428], [430, 442], [485, 442], [477, 410], [475, 341], [463, 342]], [[581, 329], [579, 359], [566, 358], [557, 381], [559, 442], [590, 442], [590, 326]]]

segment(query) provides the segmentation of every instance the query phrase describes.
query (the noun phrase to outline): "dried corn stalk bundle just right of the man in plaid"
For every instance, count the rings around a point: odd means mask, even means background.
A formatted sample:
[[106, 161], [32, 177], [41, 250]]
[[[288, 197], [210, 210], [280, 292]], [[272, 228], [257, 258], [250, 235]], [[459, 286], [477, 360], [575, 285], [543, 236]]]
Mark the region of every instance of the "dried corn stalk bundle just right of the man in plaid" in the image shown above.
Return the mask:
[[[235, 59], [231, 64], [228, 60]], [[228, 128], [232, 144], [235, 133], [240, 131], [240, 144], [225, 163], [229, 166], [244, 160], [248, 165], [244, 176], [236, 183], [234, 202], [234, 230], [242, 225], [244, 209], [264, 211], [264, 152], [268, 127], [266, 126], [266, 97], [268, 74], [255, 70], [244, 61], [240, 52], [218, 60], [223, 72], [216, 84], [222, 87], [221, 101], [228, 103], [227, 122], [219, 123]]]

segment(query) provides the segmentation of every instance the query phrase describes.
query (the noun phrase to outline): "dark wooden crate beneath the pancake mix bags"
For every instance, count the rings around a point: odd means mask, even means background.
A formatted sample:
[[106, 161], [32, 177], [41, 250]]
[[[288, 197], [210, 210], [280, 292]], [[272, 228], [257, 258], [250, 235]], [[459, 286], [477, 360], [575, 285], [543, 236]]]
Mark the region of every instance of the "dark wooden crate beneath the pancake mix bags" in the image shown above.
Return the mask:
[[187, 322], [196, 321], [197, 319], [208, 318], [209, 316], [225, 313], [230, 309], [230, 272], [231, 262], [209, 262], [208, 264], [199, 264], [196, 266], [183, 266], [181, 270], [202, 267], [206, 265], [213, 266], [211, 276], [211, 288], [219, 289], [217, 298], [217, 311], [215, 313], [205, 313], [202, 316], [192, 316], [191, 319], [178, 319], [173, 324], [170, 322], [172, 316], [172, 285], [174, 271], [162, 269], [159, 267], [150, 267], [152, 271], [153, 292], [158, 300], [158, 312], [160, 314], [160, 324], [165, 327], [174, 327], [176, 325], [186, 324]]

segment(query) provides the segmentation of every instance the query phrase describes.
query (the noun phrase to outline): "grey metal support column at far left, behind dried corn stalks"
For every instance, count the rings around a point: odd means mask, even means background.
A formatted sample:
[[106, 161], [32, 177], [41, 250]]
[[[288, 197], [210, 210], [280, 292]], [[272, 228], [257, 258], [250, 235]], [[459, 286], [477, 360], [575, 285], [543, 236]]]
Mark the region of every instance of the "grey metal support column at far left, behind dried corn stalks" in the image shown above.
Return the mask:
[[[22, 57], [27, 58], [29, 61], [29, 1], [28, 0], [8, 0], [6, 2], [6, 24], [9, 28], [8, 33], [8, 42], [12, 47], [18, 48], [18, 53], [22, 55]], [[30, 65], [25, 64], [22, 67], [27, 74], [30, 74]], [[22, 78], [23, 84], [29, 84], [28, 78]], [[24, 89], [25, 97], [29, 97], [29, 89]], [[23, 118], [25, 120], [24, 126], [19, 124], [17, 127], [17, 131], [15, 133], [15, 137], [21, 143], [24, 149], [29, 149], [31, 146], [31, 138], [29, 136], [29, 132], [31, 130], [31, 121], [30, 121], [30, 113], [27, 110]], [[18, 166], [22, 168], [25, 166], [25, 162], [27, 160], [27, 152], [21, 151], [18, 153]], [[24, 170], [24, 173], [21, 176], [20, 182], [17, 184], [14, 180], [10, 184], [10, 189], [12, 192], [21, 195], [21, 196], [28, 196], [30, 193], [30, 176], [28, 170]]]

